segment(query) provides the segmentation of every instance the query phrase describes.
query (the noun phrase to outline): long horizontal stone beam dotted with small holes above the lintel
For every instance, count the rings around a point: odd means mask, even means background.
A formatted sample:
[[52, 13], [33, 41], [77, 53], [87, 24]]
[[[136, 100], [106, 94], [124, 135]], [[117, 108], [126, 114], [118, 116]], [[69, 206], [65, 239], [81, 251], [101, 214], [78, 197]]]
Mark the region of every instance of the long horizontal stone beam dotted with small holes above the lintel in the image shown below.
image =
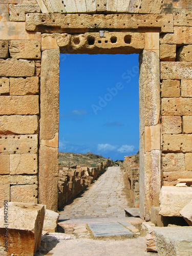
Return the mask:
[[[66, 9], [67, 10], [67, 9]], [[54, 20], [54, 21], [53, 21]], [[26, 29], [44, 33], [88, 32], [93, 29], [139, 29], [142, 27], [158, 27], [161, 32], [173, 33], [173, 16], [161, 14], [36, 14], [26, 16]]]

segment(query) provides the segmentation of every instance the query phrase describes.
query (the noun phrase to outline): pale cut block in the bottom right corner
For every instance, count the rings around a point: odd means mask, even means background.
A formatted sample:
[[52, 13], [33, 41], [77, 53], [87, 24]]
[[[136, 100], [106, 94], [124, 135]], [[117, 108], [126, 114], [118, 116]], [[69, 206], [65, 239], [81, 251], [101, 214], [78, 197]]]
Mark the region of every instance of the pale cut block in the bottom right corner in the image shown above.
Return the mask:
[[157, 227], [154, 233], [159, 256], [191, 254], [191, 227]]

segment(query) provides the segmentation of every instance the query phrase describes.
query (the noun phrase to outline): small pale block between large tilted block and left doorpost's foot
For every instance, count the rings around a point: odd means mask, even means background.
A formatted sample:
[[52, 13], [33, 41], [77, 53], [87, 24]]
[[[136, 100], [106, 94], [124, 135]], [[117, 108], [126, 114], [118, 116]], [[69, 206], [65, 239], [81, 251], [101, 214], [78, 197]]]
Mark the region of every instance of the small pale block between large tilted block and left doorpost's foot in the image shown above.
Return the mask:
[[52, 210], [46, 210], [43, 230], [47, 232], [57, 232], [59, 214]]

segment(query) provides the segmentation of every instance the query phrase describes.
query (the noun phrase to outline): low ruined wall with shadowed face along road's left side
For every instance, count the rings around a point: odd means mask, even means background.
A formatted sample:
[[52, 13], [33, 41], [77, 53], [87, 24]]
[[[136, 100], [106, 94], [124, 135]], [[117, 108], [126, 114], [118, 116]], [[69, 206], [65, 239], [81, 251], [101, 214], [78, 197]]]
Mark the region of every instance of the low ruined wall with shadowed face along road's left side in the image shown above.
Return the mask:
[[62, 167], [59, 169], [58, 207], [69, 203], [84, 191], [95, 179], [112, 166], [111, 159], [99, 164], [98, 167]]

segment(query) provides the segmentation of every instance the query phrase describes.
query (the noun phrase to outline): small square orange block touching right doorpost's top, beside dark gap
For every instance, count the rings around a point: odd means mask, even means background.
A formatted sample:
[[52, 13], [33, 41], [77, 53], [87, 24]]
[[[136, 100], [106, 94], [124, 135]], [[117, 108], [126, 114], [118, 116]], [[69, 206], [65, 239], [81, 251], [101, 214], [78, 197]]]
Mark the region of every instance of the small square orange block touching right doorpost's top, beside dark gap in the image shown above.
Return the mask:
[[175, 61], [176, 59], [176, 45], [160, 45], [160, 60], [161, 61]]

